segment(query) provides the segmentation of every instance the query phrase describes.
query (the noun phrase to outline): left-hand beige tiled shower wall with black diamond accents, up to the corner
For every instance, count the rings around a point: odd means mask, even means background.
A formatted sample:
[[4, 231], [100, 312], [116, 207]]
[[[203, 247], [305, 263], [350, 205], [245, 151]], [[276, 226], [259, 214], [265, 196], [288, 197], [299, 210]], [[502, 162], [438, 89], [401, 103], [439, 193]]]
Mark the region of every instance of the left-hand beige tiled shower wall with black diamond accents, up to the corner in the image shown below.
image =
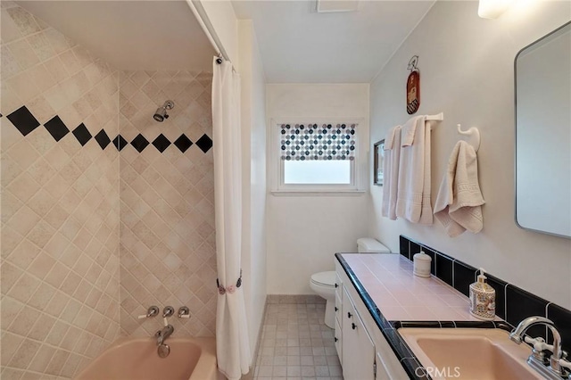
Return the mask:
[[70, 378], [120, 334], [119, 72], [1, 12], [1, 376]]

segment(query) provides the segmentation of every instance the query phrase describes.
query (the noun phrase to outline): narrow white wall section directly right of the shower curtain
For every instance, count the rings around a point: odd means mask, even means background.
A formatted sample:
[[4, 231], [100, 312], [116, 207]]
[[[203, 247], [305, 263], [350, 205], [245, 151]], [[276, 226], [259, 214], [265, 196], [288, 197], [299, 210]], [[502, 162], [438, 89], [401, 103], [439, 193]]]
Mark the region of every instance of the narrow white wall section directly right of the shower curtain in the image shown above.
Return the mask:
[[253, 353], [266, 303], [266, 87], [252, 21], [238, 21], [238, 42], [244, 172], [242, 266]]

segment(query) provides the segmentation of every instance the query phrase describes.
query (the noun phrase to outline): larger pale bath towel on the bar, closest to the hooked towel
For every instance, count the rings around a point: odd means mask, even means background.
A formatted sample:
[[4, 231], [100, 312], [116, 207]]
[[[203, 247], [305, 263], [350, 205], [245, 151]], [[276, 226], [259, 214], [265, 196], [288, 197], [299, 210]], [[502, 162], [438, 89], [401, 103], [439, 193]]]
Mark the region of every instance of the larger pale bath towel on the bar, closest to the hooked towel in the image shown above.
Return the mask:
[[426, 115], [416, 116], [401, 131], [397, 217], [433, 223], [430, 180], [430, 122], [426, 122]]

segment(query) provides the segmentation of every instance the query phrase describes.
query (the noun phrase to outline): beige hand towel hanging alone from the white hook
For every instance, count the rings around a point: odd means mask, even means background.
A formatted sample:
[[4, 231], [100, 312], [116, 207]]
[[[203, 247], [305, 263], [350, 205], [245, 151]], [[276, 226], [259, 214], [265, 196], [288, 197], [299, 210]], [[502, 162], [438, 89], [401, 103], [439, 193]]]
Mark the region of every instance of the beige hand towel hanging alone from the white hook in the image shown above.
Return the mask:
[[476, 151], [466, 141], [459, 141], [448, 160], [448, 169], [434, 204], [434, 216], [451, 237], [467, 229], [477, 234], [484, 227], [484, 203], [478, 184]]

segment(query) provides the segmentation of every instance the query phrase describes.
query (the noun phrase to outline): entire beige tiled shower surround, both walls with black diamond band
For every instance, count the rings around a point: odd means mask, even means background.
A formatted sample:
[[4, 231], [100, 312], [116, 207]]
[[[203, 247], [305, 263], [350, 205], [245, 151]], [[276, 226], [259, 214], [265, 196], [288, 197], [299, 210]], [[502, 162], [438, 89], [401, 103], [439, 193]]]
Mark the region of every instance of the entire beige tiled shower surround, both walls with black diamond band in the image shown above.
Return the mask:
[[2, 378], [70, 378], [152, 335], [151, 304], [189, 307], [175, 335], [213, 335], [211, 74], [119, 72], [0, 6]]

